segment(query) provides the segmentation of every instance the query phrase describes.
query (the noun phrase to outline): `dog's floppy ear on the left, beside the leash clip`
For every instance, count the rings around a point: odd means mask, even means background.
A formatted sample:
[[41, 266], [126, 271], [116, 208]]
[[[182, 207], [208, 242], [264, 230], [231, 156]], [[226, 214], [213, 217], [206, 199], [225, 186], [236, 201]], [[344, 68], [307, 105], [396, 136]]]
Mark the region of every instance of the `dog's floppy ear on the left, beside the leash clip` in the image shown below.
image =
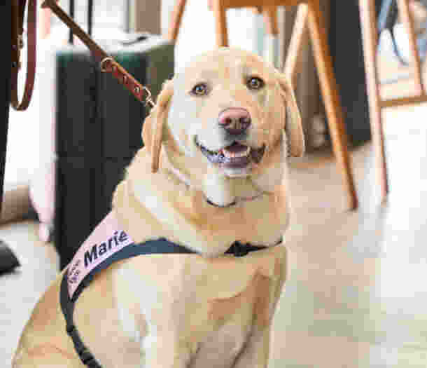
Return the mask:
[[167, 116], [167, 105], [174, 94], [172, 81], [163, 83], [155, 107], [146, 117], [142, 128], [142, 140], [151, 154], [151, 172], [159, 170], [160, 149], [162, 148], [163, 125]]

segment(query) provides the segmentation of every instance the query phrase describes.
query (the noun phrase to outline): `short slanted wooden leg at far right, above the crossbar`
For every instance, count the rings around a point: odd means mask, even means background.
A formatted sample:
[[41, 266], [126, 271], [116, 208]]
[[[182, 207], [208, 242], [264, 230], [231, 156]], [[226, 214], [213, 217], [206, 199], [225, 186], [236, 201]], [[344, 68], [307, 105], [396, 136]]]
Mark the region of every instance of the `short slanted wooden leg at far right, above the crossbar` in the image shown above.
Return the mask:
[[409, 57], [411, 60], [412, 67], [414, 68], [416, 94], [422, 95], [423, 81], [421, 79], [421, 63], [419, 62], [419, 53], [418, 49], [416, 48], [414, 20], [412, 19], [412, 15], [409, 12], [409, 1], [398, 0], [398, 9], [400, 14], [402, 15], [402, 21], [405, 25], [406, 32], [409, 37]]

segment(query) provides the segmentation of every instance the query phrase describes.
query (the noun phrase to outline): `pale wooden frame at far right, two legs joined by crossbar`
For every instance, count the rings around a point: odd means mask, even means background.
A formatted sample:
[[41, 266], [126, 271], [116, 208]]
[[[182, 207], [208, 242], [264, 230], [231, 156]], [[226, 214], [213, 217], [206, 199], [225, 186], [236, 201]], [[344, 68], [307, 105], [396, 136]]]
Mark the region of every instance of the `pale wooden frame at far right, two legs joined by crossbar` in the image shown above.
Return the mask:
[[363, 36], [363, 54], [365, 57], [366, 88], [369, 101], [372, 142], [374, 144], [377, 161], [377, 180], [381, 189], [381, 200], [384, 201], [388, 194], [388, 179], [381, 108], [427, 102], [427, 96], [423, 90], [419, 54], [416, 50], [414, 20], [409, 12], [409, 0], [398, 0], [398, 9], [400, 15], [402, 15], [402, 21], [406, 26], [407, 34], [409, 35], [409, 49], [411, 50], [410, 64], [414, 69], [416, 83], [416, 95], [412, 97], [398, 97], [391, 100], [381, 100], [377, 74], [378, 35], [374, 0], [359, 0], [359, 9], [360, 25]]

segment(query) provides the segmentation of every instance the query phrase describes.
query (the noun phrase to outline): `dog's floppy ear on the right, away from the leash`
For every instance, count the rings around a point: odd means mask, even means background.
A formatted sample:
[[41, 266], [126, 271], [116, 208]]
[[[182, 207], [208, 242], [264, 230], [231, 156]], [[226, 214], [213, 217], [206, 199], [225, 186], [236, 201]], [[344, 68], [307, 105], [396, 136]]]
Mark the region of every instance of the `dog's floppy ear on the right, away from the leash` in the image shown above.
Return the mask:
[[302, 130], [300, 109], [298, 109], [297, 106], [292, 83], [286, 76], [283, 76], [283, 74], [279, 76], [279, 84], [281, 87], [281, 95], [286, 104], [285, 131], [288, 135], [290, 156], [300, 157], [305, 151], [304, 131]]

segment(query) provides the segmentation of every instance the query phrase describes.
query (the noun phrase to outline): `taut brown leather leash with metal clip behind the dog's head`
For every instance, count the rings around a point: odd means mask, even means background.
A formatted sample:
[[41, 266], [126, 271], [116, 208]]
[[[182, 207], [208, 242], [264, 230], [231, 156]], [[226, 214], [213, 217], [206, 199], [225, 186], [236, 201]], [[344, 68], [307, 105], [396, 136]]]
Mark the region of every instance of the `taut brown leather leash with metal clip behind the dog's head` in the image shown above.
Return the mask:
[[[31, 0], [30, 0], [31, 1]], [[97, 43], [95, 43], [90, 36], [81, 29], [76, 22], [74, 22], [69, 15], [67, 15], [62, 8], [60, 8], [55, 0], [45, 0], [41, 6], [42, 8], [50, 8], [57, 17], [62, 20], [78, 38], [85, 43], [87, 48], [91, 51], [94, 59], [99, 62], [101, 71], [112, 73], [113, 76], [122, 83], [130, 93], [137, 97], [137, 100], [145, 103], [146, 106], [153, 107], [155, 103], [152, 100], [151, 92], [145, 86], [142, 86], [134, 77], [127, 72], [116, 60], [107, 54]]]

